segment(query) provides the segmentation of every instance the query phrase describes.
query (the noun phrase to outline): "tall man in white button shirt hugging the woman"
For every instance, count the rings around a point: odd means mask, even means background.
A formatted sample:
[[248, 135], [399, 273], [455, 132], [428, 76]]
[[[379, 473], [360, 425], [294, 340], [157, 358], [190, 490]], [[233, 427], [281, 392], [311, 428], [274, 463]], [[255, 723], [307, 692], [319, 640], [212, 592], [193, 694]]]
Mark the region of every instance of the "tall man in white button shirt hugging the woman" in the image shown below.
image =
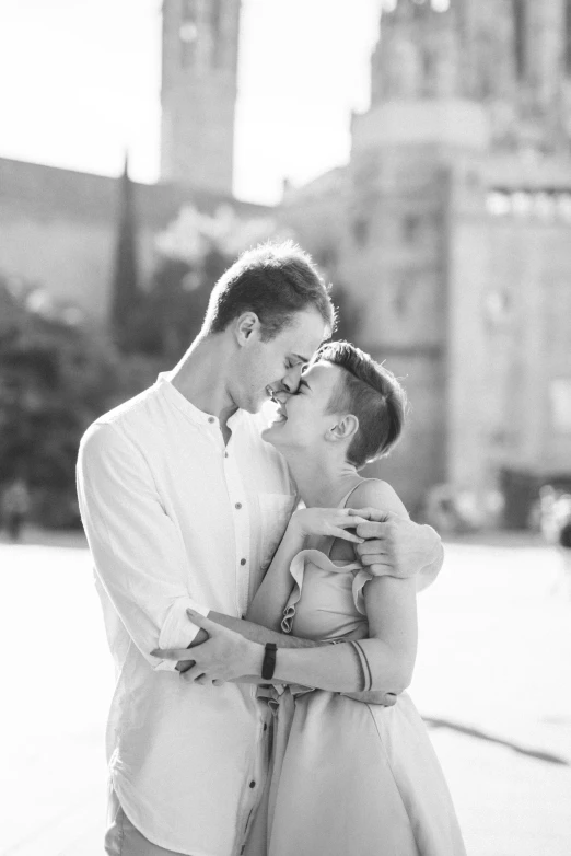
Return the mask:
[[[290, 243], [249, 251], [217, 284], [202, 331], [173, 372], [82, 440], [80, 508], [118, 672], [108, 854], [243, 852], [267, 763], [255, 687], [186, 683], [151, 651], [193, 644], [187, 609], [245, 614], [296, 502], [257, 412], [268, 395], [298, 389], [333, 326], [308, 256]], [[438, 572], [442, 547], [430, 528], [395, 518], [388, 543], [386, 525], [366, 525], [377, 539], [361, 545], [365, 564], [391, 564], [397, 576]], [[278, 637], [250, 632], [258, 641]]]

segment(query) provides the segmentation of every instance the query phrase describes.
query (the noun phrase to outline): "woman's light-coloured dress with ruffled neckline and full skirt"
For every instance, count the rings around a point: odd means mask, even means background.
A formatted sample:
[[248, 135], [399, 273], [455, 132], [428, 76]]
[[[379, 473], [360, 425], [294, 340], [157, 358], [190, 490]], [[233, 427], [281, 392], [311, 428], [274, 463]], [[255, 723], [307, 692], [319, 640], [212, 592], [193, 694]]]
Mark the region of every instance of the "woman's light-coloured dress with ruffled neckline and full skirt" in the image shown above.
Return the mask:
[[[327, 553], [304, 550], [293, 559], [282, 629], [365, 638], [363, 587], [372, 575]], [[446, 782], [406, 693], [383, 707], [290, 686], [270, 704], [272, 767], [256, 819], [268, 856], [465, 856]]]

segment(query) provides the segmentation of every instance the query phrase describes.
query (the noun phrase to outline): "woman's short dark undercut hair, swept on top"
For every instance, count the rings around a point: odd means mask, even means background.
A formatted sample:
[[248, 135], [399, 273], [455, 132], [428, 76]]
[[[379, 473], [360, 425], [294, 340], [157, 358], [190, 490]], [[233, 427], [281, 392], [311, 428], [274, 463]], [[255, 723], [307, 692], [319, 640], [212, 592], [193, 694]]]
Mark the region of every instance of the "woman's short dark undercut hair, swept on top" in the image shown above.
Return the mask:
[[348, 342], [322, 345], [315, 360], [345, 371], [328, 405], [329, 413], [350, 413], [359, 419], [347, 456], [357, 469], [388, 454], [405, 424], [407, 396], [393, 372]]

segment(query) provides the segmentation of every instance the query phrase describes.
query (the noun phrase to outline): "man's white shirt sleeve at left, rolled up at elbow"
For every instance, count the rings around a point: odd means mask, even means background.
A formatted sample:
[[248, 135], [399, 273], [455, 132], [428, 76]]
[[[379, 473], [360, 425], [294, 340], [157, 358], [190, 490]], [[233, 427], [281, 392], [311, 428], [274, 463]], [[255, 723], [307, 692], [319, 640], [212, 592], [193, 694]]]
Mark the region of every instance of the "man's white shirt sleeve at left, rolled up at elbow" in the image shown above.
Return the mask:
[[183, 539], [166, 513], [142, 452], [116, 424], [93, 425], [78, 458], [78, 498], [95, 572], [130, 637], [153, 669], [154, 648], [186, 648], [207, 615], [188, 589]]

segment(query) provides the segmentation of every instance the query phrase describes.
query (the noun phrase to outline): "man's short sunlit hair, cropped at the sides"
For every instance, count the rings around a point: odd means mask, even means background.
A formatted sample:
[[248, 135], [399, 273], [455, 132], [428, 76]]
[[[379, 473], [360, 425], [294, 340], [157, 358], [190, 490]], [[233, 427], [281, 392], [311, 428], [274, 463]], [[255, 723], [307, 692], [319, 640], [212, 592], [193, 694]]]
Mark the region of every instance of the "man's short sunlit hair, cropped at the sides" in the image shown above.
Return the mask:
[[268, 242], [247, 250], [222, 274], [210, 296], [203, 331], [222, 333], [243, 312], [255, 312], [261, 339], [268, 342], [293, 323], [295, 313], [311, 306], [333, 332], [329, 288], [311, 256], [293, 241]]

